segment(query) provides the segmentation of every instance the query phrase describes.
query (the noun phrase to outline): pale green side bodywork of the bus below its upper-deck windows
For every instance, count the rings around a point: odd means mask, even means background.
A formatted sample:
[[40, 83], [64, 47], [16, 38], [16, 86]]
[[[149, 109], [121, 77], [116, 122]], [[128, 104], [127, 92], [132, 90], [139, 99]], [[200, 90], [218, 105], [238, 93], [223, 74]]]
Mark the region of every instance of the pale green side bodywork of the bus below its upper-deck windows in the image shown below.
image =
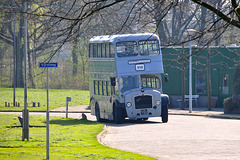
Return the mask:
[[[114, 58], [90, 58], [89, 59], [89, 90], [91, 114], [95, 115], [95, 104], [98, 103], [100, 118], [112, 120], [111, 95], [106, 91], [110, 88], [110, 77], [116, 77], [116, 61]], [[108, 82], [108, 83], [107, 83]], [[104, 84], [103, 84], [104, 83]], [[96, 84], [101, 84], [98, 87]], [[107, 86], [107, 87], [106, 87]], [[103, 88], [105, 90], [103, 90]], [[95, 91], [97, 89], [97, 91]]]

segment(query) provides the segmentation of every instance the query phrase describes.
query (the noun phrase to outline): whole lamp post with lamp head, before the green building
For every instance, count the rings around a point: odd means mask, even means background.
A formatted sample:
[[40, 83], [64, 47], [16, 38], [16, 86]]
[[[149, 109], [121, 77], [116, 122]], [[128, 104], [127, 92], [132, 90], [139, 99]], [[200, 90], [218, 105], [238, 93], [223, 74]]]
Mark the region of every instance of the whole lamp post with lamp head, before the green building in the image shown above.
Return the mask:
[[195, 29], [187, 29], [190, 36], [189, 42], [189, 113], [192, 113], [192, 36], [197, 31]]

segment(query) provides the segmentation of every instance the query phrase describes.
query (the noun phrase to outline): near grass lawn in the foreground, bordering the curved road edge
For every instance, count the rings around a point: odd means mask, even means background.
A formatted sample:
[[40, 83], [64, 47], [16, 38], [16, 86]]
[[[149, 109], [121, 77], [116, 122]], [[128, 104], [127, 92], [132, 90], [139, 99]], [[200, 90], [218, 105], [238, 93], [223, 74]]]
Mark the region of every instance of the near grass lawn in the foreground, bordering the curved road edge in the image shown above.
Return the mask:
[[[46, 121], [29, 116], [29, 141], [22, 141], [17, 115], [0, 115], [0, 159], [45, 159]], [[50, 159], [153, 159], [111, 149], [98, 143], [103, 124], [87, 120], [50, 117]]]

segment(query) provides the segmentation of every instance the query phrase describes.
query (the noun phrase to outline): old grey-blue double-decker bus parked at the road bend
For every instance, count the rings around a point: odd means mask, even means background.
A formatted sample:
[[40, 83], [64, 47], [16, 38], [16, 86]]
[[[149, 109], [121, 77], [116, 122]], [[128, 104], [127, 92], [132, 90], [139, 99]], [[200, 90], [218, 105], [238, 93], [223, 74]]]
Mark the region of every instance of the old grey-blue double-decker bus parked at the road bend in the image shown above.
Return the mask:
[[162, 117], [166, 123], [169, 97], [162, 92], [159, 37], [105, 35], [89, 43], [90, 106], [97, 121]]

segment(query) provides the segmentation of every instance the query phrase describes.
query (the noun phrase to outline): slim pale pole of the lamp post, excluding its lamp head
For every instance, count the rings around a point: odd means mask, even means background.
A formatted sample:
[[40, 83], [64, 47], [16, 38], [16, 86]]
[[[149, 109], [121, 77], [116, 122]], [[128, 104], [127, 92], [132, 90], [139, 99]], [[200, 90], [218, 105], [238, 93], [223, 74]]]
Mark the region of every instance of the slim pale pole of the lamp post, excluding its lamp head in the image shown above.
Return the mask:
[[189, 48], [189, 113], [192, 113], [192, 39]]

